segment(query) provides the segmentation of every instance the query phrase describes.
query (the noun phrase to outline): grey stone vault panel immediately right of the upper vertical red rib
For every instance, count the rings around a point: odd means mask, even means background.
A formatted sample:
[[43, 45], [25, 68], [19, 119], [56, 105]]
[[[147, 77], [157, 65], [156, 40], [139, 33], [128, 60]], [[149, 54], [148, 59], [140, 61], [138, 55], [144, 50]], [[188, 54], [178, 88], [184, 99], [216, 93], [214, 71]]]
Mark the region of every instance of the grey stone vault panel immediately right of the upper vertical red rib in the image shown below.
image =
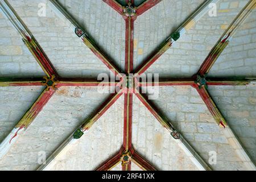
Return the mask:
[[203, 2], [202, 0], [164, 0], [139, 16], [134, 27], [135, 68], [142, 64], [152, 51], [155, 51]]

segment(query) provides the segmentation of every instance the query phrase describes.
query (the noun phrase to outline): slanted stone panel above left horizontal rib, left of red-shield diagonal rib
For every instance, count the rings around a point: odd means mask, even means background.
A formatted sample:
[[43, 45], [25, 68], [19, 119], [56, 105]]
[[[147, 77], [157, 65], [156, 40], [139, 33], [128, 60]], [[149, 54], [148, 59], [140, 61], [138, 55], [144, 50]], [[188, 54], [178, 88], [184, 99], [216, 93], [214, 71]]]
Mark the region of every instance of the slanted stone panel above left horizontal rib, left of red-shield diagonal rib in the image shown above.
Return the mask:
[[[45, 2], [45, 1], [43, 1]], [[77, 38], [72, 28], [46, 6], [46, 17], [38, 16], [40, 0], [10, 1], [28, 29], [43, 48], [62, 77], [97, 78], [100, 73], [110, 75], [108, 68]]]

